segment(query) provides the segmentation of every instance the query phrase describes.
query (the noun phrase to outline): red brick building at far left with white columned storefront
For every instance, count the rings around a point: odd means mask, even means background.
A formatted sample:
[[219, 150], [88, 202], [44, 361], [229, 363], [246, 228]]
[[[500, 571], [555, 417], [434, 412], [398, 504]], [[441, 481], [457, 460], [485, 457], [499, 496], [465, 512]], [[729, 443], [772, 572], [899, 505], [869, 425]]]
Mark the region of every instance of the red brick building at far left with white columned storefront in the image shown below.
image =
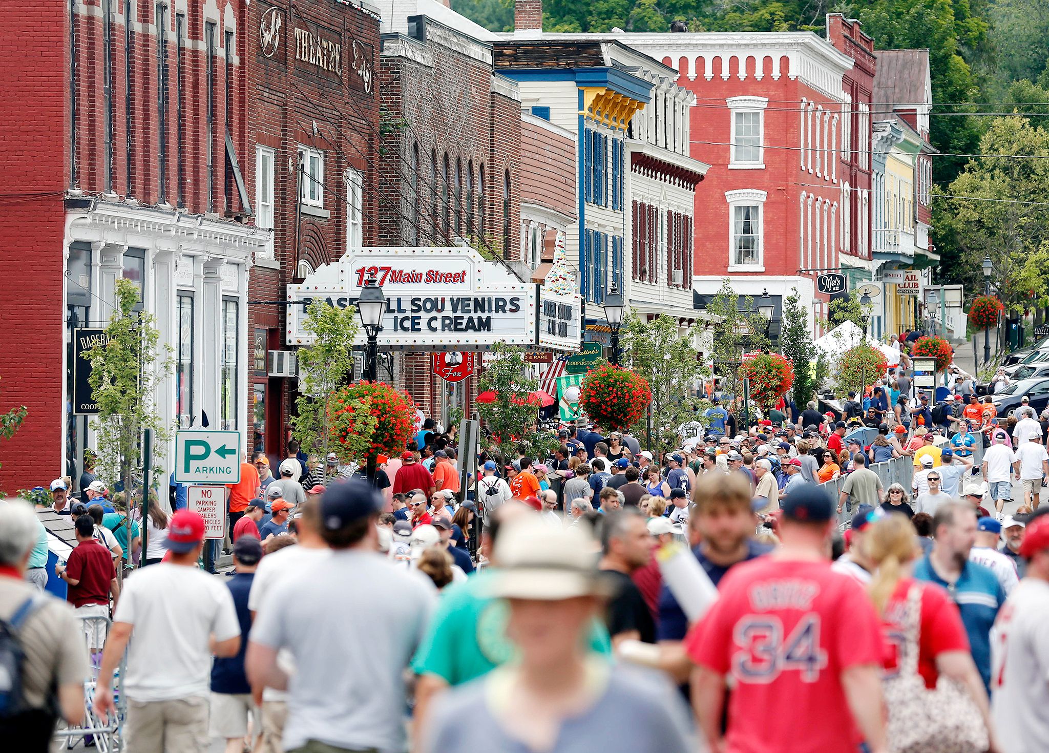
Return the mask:
[[22, 8], [4, 28], [2, 304], [36, 335], [2, 336], [0, 400], [29, 408], [0, 443], [5, 489], [79, 479], [95, 437], [74, 334], [107, 323], [121, 277], [175, 361], [155, 394], [162, 422], [207, 413], [247, 432], [248, 271], [269, 233], [250, 224], [240, 169], [245, 23], [240, 3], [72, 0]]

